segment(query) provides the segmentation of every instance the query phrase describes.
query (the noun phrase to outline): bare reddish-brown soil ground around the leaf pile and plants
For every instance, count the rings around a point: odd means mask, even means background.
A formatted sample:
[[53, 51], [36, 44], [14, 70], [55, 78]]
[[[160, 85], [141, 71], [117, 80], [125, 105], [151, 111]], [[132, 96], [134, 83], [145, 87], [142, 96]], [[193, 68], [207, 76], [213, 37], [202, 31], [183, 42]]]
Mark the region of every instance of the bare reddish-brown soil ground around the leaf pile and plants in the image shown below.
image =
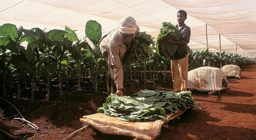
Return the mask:
[[[228, 89], [220, 94], [208, 95], [192, 91], [200, 109], [189, 109], [162, 127], [157, 140], [255, 140], [256, 139], [256, 64], [242, 66], [241, 79], [228, 79]], [[170, 90], [168, 83], [150, 82], [152, 87]], [[125, 89], [126, 95], [145, 87]], [[83, 127], [83, 115], [96, 113], [105, 102], [106, 94], [65, 92], [64, 97], [54, 96], [45, 100], [9, 100], [27, 120], [40, 131], [32, 130], [14, 120], [17, 111], [1, 100], [0, 128], [10, 134], [29, 140], [61, 140]], [[0, 133], [0, 140], [7, 140]], [[89, 128], [73, 140], [133, 140], [131, 137], [104, 134]]]

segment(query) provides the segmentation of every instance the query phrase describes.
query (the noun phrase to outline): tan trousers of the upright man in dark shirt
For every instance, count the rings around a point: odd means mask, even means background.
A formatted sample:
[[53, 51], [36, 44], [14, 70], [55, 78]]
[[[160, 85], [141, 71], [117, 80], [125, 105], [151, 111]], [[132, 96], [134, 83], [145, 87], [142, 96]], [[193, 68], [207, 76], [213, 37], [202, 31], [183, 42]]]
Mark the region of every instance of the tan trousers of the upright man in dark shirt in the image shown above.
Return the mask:
[[182, 59], [171, 60], [172, 81], [175, 92], [187, 91], [188, 55]]

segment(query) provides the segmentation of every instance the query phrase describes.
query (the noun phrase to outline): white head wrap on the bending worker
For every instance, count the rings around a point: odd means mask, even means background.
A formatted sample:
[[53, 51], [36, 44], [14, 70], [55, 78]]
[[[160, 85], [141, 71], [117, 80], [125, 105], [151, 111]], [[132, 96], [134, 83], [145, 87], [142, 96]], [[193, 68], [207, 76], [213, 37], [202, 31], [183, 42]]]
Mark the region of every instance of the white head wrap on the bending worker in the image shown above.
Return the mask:
[[119, 31], [125, 34], [135, 34], [137, 30], [136, 20], [131, 16], [125, 16], [120, 20]]

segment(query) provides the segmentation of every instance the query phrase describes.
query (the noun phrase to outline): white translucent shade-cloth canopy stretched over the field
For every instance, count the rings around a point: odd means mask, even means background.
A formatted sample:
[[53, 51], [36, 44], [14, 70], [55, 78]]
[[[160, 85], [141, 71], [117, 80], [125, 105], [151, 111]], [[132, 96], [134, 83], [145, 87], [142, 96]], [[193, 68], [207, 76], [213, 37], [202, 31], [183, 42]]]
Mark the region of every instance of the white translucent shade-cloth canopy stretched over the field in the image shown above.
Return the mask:
[[89, 20], [99, 22], [106, 34], [131, 15], [140, 31], [157, 38], [161, 23], [176, 25], [181, 9], [188, 14], [191, 49], [206, 49], [207, 24], [210, 51], [219, 52], [221, 45], [221, 51], [256, 57], [256, 0], [0, 0], [0, 25], [47, 31], [67, 26], [82, 38]]

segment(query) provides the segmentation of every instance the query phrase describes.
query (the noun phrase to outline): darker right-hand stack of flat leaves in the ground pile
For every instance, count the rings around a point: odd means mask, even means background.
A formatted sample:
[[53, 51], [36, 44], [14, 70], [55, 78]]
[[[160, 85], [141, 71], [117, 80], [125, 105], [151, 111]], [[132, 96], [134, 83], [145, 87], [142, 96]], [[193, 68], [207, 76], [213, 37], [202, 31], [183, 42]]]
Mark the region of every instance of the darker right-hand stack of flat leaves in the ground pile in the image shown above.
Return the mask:
[[167, 114], [175, 113], [178, 109], [184, 111], [187, 108], [198, 108], [191, 96], [191, 91], [173, 93], [173, 91], [164, 90], [141, 90], [133, 96], [133, 99], [139, 102], [164, 108]]

